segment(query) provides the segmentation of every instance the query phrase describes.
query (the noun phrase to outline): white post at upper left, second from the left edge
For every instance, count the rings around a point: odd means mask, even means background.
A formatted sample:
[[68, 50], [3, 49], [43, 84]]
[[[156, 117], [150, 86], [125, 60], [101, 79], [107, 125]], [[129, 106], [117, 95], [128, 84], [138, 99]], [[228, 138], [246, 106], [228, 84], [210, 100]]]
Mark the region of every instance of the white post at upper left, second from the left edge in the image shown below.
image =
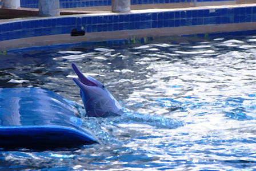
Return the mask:
[[59, 0], [39, 0], [38, 7], [40, 16], [59, 15]]

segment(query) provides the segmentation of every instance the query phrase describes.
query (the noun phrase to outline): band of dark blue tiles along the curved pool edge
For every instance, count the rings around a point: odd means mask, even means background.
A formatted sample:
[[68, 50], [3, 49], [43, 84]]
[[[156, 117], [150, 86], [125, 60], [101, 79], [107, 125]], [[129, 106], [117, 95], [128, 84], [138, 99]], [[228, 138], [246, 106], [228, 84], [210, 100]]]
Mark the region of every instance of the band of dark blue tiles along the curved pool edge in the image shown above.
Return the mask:
[[17, 21], [0, 24], [0, 40], [70, 34], [73, 28], [103, 32], [245, 22], [256, 22], [256, 6]]

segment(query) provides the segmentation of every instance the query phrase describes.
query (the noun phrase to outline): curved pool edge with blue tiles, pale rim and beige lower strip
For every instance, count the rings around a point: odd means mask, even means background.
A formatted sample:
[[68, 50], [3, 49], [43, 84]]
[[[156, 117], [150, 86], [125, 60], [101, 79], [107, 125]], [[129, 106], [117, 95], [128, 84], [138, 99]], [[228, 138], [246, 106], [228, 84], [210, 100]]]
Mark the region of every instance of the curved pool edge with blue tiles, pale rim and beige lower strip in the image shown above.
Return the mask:
[[[71, 30], [84, 36], [70, 36]], [[0, 51], [29, 46], [256, 30], [256, 4], [136, 10], [0, 23]]]

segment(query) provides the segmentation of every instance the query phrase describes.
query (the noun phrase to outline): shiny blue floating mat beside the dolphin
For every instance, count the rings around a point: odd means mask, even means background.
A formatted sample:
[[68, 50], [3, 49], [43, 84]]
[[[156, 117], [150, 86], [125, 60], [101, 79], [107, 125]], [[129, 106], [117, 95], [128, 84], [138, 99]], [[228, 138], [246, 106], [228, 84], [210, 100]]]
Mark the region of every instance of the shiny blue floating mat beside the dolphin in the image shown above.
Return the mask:
[[54, 149], [97, 143], [74, 106], [41, 88], [0, 88], [0, 148]]

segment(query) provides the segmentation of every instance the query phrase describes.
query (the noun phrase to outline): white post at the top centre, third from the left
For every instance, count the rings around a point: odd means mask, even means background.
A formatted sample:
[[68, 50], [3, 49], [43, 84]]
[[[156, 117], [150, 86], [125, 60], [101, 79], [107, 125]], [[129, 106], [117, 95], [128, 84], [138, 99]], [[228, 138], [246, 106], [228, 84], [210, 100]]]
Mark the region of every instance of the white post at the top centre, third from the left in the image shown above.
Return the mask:
[[127, 13], [131, 10], [131, 0], [111, 0], [111, 10], [114, 13]]

